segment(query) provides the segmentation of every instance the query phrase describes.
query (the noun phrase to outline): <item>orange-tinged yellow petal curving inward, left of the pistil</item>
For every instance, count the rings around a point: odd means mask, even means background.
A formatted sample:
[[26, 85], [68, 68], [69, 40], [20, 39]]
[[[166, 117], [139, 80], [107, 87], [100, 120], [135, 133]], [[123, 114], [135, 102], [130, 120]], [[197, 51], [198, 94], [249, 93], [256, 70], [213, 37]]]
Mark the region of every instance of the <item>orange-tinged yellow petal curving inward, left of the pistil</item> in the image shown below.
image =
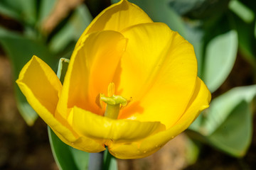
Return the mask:
[[78, 106], [87, 111], [103, 114], [96, 104], [97, 95], [107, 94], [127, 40], [112, 30], [86, 35], [75, 48], [68, 65], [58, 112], [68, 118], [68, 108]]

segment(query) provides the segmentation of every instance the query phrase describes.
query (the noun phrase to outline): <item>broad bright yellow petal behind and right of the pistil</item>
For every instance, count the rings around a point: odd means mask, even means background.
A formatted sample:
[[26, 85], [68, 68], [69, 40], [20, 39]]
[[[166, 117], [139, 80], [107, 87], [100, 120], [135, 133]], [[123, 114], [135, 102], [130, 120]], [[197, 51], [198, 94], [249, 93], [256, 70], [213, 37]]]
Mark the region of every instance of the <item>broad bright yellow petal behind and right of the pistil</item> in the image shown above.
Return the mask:
[[129, 40], [114, 84], [132, 97], [119, 118], [174, 125], [196, 84], [193, 46], [164, 23], [144, 23], [122, 31]]

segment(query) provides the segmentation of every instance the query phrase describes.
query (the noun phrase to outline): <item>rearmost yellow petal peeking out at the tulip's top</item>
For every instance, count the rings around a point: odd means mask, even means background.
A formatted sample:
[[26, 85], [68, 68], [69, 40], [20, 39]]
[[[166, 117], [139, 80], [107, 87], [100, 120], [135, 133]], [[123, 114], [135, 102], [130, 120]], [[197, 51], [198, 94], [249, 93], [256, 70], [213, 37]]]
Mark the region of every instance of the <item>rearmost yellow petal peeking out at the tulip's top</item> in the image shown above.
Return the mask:
[[82, 33], [77, 42], [77, 46], [87, 33], [100, 30], [123, 30], [129, 26], [139, 23], [152, 23], [153, 21], [139, 6], [129, 3], [129, 1], [121, 0], [117, 4], [105, 8]]

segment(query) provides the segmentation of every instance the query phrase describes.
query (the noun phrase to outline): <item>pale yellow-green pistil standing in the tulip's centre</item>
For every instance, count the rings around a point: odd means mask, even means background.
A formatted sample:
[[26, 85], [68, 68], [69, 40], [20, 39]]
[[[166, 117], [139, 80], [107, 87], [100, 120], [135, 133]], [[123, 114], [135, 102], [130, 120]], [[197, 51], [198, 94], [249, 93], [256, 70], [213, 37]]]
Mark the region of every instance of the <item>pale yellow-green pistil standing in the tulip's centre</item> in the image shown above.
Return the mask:
[[121, 107], [127, 106], [129, 102], [126, 98], [122, 96], [114, 95], [115, 86], [114, 83], [110, 83], [107, 88], [107, 96], [104, 94], [99, 94], [96, 98], [96, 103], [100, 108], [102, 108], [102, 101], [107, 104], [104, 116], [107, 118], [117, 119], [119, 115], [119, 110]]

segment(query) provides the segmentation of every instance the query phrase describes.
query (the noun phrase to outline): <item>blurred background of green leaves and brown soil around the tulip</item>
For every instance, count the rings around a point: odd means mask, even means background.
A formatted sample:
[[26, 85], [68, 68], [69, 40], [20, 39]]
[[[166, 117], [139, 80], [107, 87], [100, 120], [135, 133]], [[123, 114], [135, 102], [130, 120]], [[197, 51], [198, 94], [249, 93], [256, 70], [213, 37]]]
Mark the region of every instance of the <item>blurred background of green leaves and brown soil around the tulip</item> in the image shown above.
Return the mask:
[[[0, 169], [58, 169], [46, 123], [15, 80], [33, 55], [56, 72], [95, 16], [116, 0], [0, 1]], [[210, 108], [150, 157], [119, 169], [256, 169], [256, 3], [252, 0], [131, 0], [195, 48]], [[56, 151], [55, 151], [56, 152]], [[65, 153], [64, 153], [65, 154]], [[75, 156], [74, 156], [75, 157]], [[117, 168], [115, 167], [115, 168]], [[78, 168], [79, 169], [79, 168]]]

